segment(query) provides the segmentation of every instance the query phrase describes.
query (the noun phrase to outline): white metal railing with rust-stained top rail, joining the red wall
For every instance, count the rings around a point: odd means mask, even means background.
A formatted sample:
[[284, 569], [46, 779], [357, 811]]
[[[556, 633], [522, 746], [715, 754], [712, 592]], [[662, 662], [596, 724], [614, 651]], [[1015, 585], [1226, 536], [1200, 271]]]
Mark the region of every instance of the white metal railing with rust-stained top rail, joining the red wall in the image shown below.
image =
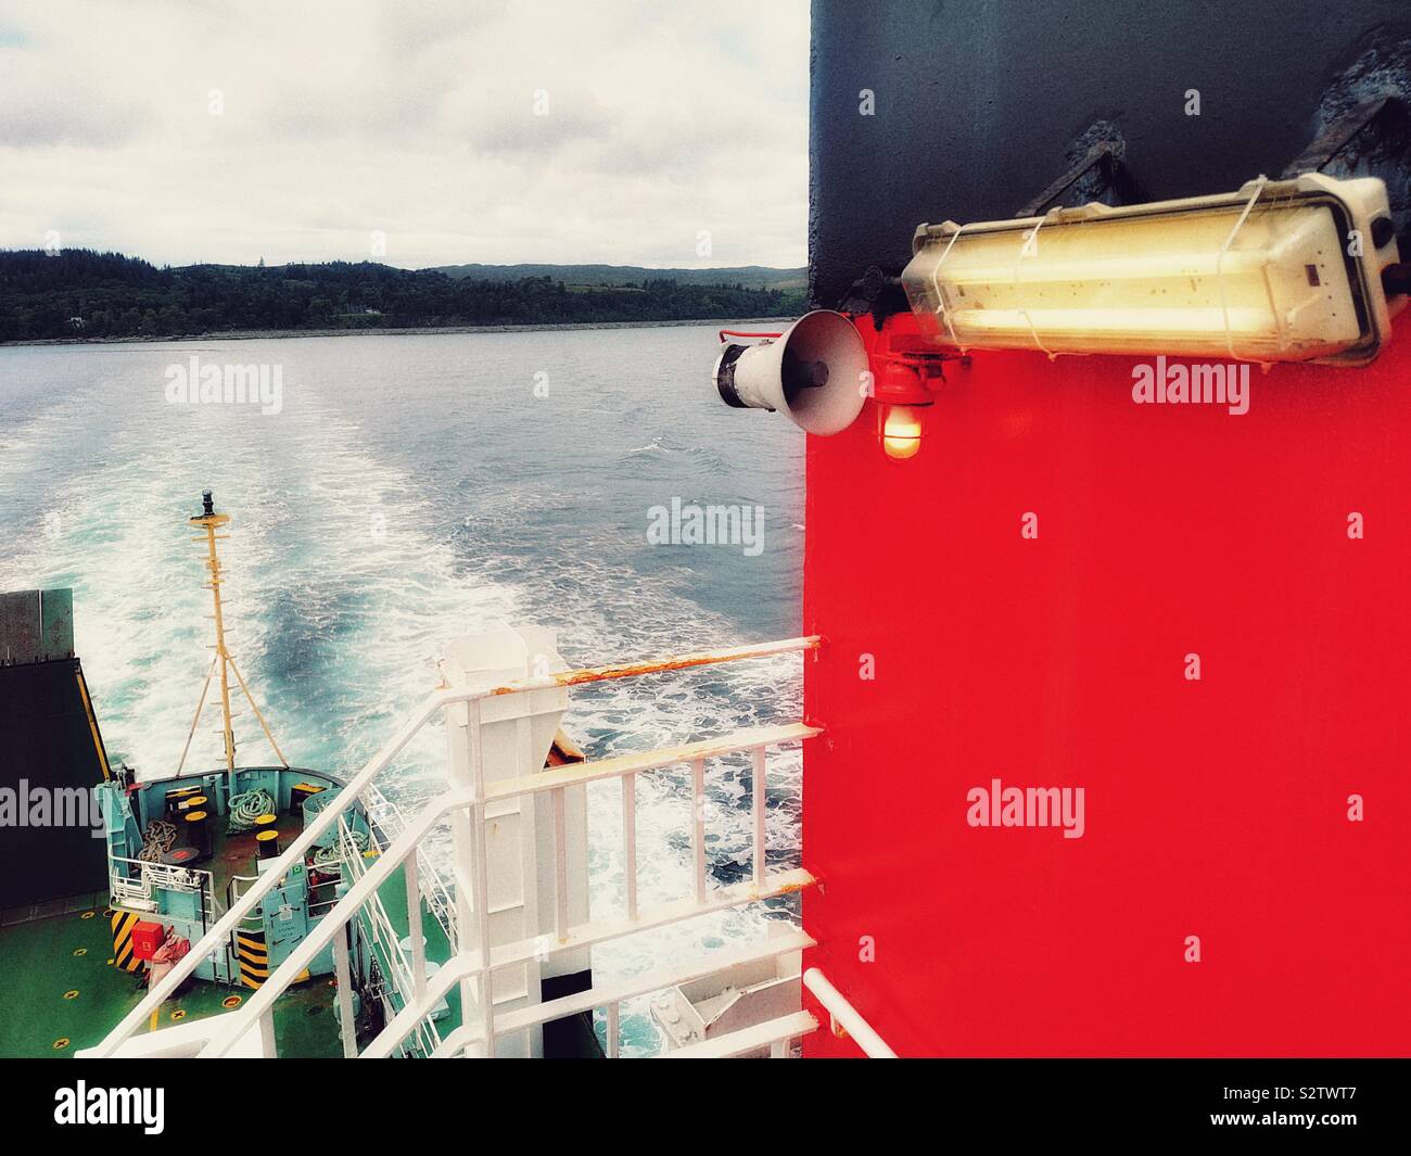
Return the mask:
[[[665, 673], [670, 670], [686, 670], [697, 666], [708, 666], [724, 662], [738, 662], [744, 659], [768, 658], [782, 654], [813, 651], [820, 645], [814, 637], [790, 638], [779, 642], [766, 642], [755, 646], [734, 646], [718, 651], [698, 651], [677, 655], [656, 662], [632, 663], [626, 666], [593, 666], [559, 673], [539, 675], [491, 687], [447, 687], [442, 686], [429, 694], [402, 723], [392, 738], [368, 761], [368, 764], [354, 775], [339, 795], [320, 810], [303, 829], [298, 838], [289, 844], [277, 864], [268, 868], [261, 878], [244, 895], [241, 895], [212, 927], [200, 943], [158, 982], [147, 997], [137, 1004], [123, 1020], [107, 1035], [107, 1037], [89, 1052], [90, 1056], [113, 1056], [148, 1016], [166, 999], [175, 988], [195, 970], [196, 961], [219, 950], [220, 943], [229, 937], [241, 920], [260, 903], [260, 901], [284, 878], [293, 865], [303, 861], [309, 850], [339, 823], [343, 812], [358, 803], [360, 796], [374, 785], [377, 776], [391, 764], [402, 748], [422, 730], [426, 723], [446, 707], [464, 704], [464, 723], [457, 720], [457, 725], [464, 728], [464, 765], [461, 759], [453, 759], [452, 786], [442, 795], [426, 803], [422, 810], [408, 820], [385, 847], [377, 861], [357, 879], [341, 901], [315, 925], [301, 944], [285, 958], [285, 961], [265, 980], [265, 982], [246, 1001], [237, 1011], [226, 1016], [209, 1020], [202, 1056], [223, 1056], [251, 1029], [258, 1029], [265, 1040], [265, 1050], [274, 1047], [272, 1006], [275, 999], [299, 977], [313, 961], [313, 958], [336, 937], [341, 939], [341, 953], [339, 943], [334, 943], [336, 954], [344, 957], [346, 964], [346, 932], [343, 930], [357, 912], [377, 893], [377, 889], [387, 882], [392, 872], [405, 868], [408, 889], [408, 923], [412, 944], [412, 981], [415, 998], [412, 1004], [394, 1018], [382, 1033], [367, 1049], [365, 1054], [374, 1054], [377, 1049], [381, 1054], [389, 1054], [402, 1039], [405, 1039], [416, 1023], [429, 1016], [439, 999], [446, 995], [450, 985], [461, 982], [461, 1019], [463, 1028], [471, 1022], [474, 1008], [477, 1016], [477, 1035], [466, 1036], [456, 1050], [463, 1050], [468, 1044], [484, 1049], [485, 1054], [494, 1054], [495, 1039], [507, 1030], [516, 1030], [514, 1026], [497, 1028], [494, 999], [491, 998], [491, 977], [499, 968], [531, 960], [542, 960], [560, 951], [587, 947], [595, 943], [631, 934], [649, 927], [659, 927], [689, 919], [707, 912], [722, 910], [741, 903], [768, 899], [800, 891], [813, 882], [807, 871], [779, 871], [773, 875], [766, 869], [765, 848], [765, 749], [768, 747], [794, 742], [817, 735], [820, 731], [803, 723], [759, 727], [753, 730], [737, 731], [718, 740], [693, 742], [662, 751], [648, 751], [641, 754], [621, 755], [617, 758], [598, 759], [593, 762], [571, 764], [569, 766], [543, 771], [519, 778], [501, 779], [487, 789], [485, 766], [481, 752], [480, 733], [480, 704], [485, 699], [508, 694], [522, 694], [532, 690], [552, 690], [557, 687], [571, 687], [597, 682], [635, 678], [639, 675]], [[751, 751], [755, 761], [755, 869], [753, 878], [745, 884], [718, 888], [711, 891], [706, 879], [706, 838], [704, 838], [704, 764], [708, 758], [741, 751]], [[649, 910], [641, 910], [636, 896], [636, 840], [635, 840], [635, 809], [636, 790], [635, 776], [650, 773], [679, 764], [690, 764], [691, 781], [694, 786], [694, 824], [691, 831], [691, 850], [694, 858], [694, 895], [689, 899], [669, 902]], [[624, 807], [624, 841], [626, 850], [626, 912], [621, 919], [590, 920], [576, 927], [567, 926], [567, 865], [562, 854], [564, 844], [564, 790], [581, 786], [588, 782], [617, 778], [622, 783]], [[485, 809], [497, 800], [515, 799], [519, 796], [536, 796], [552, 792], [555, 812], [555, 845], [560, 848], [556, 855], [556, 877], [559, 879], [557, 895], [557, 943], [545, 944], [540, 937], [521, 940], [518, 943], [491, 946], [490, 936], [490, 906], [488, 906], [488, 864], [485, 845]], [[420, 934], [420, 862], [416, 850], [420, 841], [447, 816], [459, 824], [460, 833], [468, 836], [457, 838], [457, 925], [460, 929], [470, 929], [467, 920], [474, 923], [474, 947], [466, 941], [467, 936], [457, 936], [457, 956], [447, 963], [429, 984], [426, 977], [425, 944]], [[467, 830], [468, 829], [468, 830]], [[463, 919], [464, 916], [464, 919]], [[473, 988], [474, 985], [474, 988]], [[590, 994], [584, 994], [590, 995]], [[600, 998], [600, 992], [591, 992], [593, 998]], [[605, 1001], [612, 1002], [612, 1001]], [[546, 1006], [546, 1005], [540, 1005]], [[601, 1006], [601, 1005], [598, 1005]], [[505, 1020], [514, 1023], [512, 1013]], [[803, 1025], [803, 1019], [793, 1022], [794, 1028]], [[351, 1025], [346, 1023], [346, 1030]], [[797, 1035], [799, 1032], [794, 1032]], [[347, 1037], [344, 1052], [349, 1054]], [[440, 1049], [444, 1054], [444, 1046]]]

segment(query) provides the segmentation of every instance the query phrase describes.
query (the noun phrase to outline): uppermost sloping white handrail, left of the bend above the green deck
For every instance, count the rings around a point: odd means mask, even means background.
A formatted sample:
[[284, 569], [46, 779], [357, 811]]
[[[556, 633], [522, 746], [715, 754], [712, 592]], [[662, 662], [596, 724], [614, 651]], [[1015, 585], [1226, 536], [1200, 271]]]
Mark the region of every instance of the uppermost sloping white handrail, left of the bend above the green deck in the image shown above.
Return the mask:
[[[220, 920], [193, 944], [186, 957], [176, 967], [166, 973], [165, 978], [147, 992], [133, 1011], [130, 1011], [119, 1025], [103, 1037], [103, 1042], [93, 1049], [97, 1059], [111, 1056], [119, 1046], [148, 1018], [162, 1002], [176, 991], [176, 988], [196, 970], [196, 964], [207, 956], [222, 950], [223, 941], [237, 929], [241, 920], [264, 899], [275, 885], [285, 877], [295, 864], [303, 862], [305, 853], [327, 831], [343, 813], [343, 810], [357, 802], [363, 788], [389, 764], [402, 747], [411, 742], [412, 737], [426, 724], [426, 721], [440, 709], [442, 693], [429, 694], [398, 728], [396, 734], [378, 751], [358, 773], [337, 793], [333, 802], [315, 816], [313, 821], [305, 826], [303, 833], [289, 844], [288, 850], [278, 858], [274, 867], [268, 868], [250, 891], [240, 896], [240, 901], [227, 910]], [[327, 922], [327, 916], [325, 916]], [[302, 968], [301, 968], [302, 970]], [[261, 988], [264, 991], [264, 988]]]

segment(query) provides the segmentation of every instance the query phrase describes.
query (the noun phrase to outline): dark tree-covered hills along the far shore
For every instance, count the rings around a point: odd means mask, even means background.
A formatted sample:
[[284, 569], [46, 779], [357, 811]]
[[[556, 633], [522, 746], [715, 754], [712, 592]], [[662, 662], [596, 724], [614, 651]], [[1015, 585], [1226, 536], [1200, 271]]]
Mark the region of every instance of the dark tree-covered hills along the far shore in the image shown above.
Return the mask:
[[[0, 250], [0, 342], [248, 330], [634, 325], [782, 318], [804, 309], [801, 282], [799, 288], [783, 288], [782, 282], [762, 281], [766, 275], [801, 275], [801, 270], [461, 268], [474, 271], [450, 275], [374, 261], [157, 268], [120, 253], [71, 248], [51, 257], [40, 250]], [[594, 268], [625, 279], [567, 279], [593, 277]], [[746, 282], [745, 274], [755, 281]]]

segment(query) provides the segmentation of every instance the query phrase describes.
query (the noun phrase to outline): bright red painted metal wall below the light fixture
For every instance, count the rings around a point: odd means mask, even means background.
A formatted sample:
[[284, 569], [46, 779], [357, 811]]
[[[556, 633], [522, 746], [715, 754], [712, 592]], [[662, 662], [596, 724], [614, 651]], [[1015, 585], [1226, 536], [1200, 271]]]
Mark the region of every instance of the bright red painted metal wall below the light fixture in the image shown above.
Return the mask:
[[[1242, 416], [976, 353], [910, 462], [871, 404], [809, 439], [804, 964], [900, 1054], [1411, 1053], [1397, 329], [1364, 370], [1253, 368]], [[1084, 788], [1082, 837], [969, 826], [996, 778]]]

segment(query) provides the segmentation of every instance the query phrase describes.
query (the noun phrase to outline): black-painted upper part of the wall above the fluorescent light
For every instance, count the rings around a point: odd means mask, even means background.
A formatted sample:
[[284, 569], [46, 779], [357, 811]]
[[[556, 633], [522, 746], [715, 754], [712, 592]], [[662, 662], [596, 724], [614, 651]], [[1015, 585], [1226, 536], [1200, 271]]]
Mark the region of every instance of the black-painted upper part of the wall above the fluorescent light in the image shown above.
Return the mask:
[[1277, 178], [1379, 95], [1401, 103], [1325, 171], [1387, 181], [1405, 257], [1407, 0], [814, 0], [813, 305], [841, 305], [869, 265], [899, 272], [921, 222], [1015, 216], [1094, 143], [1118, 179], [1089, 172], [1053, 203]]

